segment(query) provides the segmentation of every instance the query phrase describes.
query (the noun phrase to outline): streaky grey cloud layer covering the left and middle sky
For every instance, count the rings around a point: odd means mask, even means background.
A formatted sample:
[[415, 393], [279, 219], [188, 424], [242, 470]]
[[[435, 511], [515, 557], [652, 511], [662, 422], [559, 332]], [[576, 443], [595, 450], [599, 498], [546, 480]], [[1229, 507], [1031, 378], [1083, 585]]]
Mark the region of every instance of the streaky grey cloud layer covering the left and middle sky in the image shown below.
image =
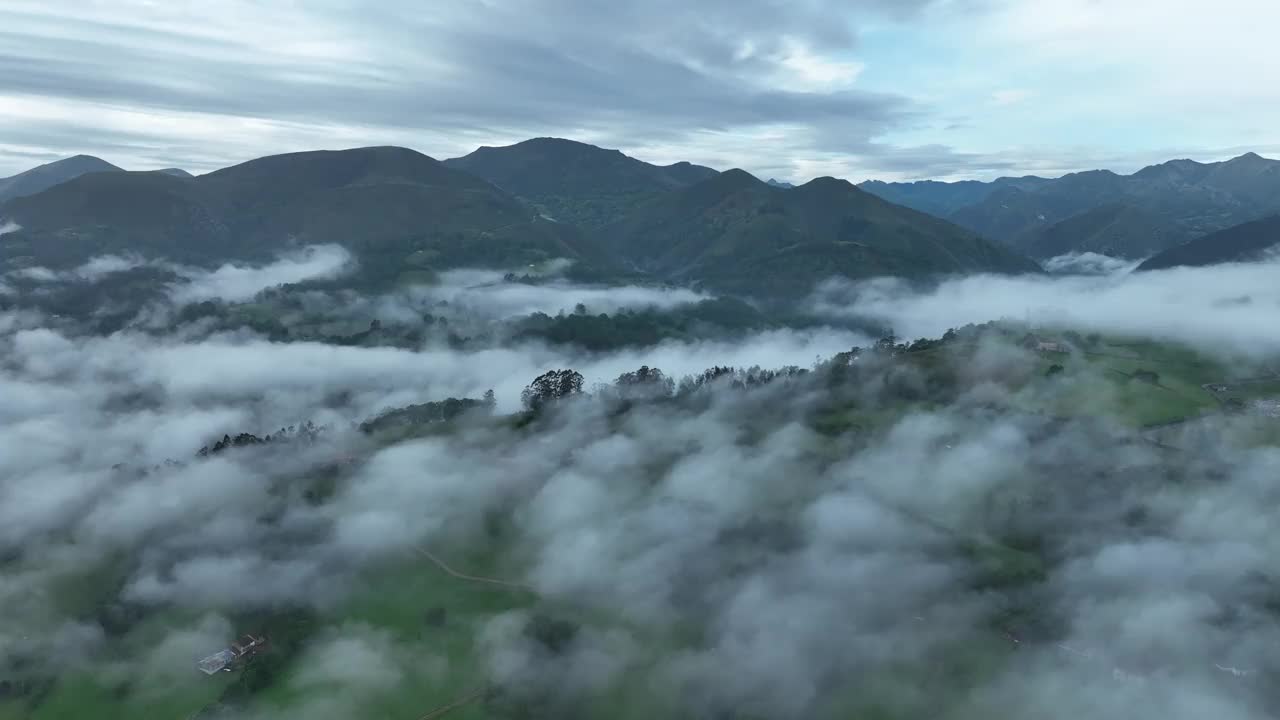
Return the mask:
[[[372, 9], [333, 1], [305, 12], [248, 4], [195, 14], [6, 10], [6, 92], [142, 114], [119, 122], [97, 115], [92, 128], [65, 115], [0, 127], [17, 149], [6, 163], [15, 170], [29, 161], [23, 147], [211, 169], [337, 138], [443, 155], [534, 135], [623, 149], [687, 147], [708, 132], [773, 126], [795, 128], [780, 156], [896, 155], [897, 165], [919, 167], [911, 155], [933, 164], [951, 151], [873, 140], [923, 108], [905, 96], [805, 87], [805, 70], [790, 59], [804, 51], [833, 61], [856, 49], [861, 20], [909, 20], [933, 4], [544, 0]], [[292, 29], [282, 36], [276, 27]], [[182, 114], [189, 114], [189, 128], [175, 124]], [[215, 138], [228, 124], [250, 132]], [[86, 137], [101, 137], [101, 145], [86, 147]], [[759, 155], [755, 146], [748, 156]]]

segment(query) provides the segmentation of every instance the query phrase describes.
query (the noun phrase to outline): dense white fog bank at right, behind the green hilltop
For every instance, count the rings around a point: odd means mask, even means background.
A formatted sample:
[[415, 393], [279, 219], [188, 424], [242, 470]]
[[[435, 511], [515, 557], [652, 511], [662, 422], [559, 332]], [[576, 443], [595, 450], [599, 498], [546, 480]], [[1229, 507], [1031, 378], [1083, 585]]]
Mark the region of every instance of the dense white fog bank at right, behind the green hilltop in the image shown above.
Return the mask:
[[1271, 322], [1280, 307], [1277, 272], [1275, 263], [1253, 263], [1097, 277], [973, 275], [923, 291], [882, 279], [828, 284], [814, 302], [819, 313], [872, 318], [908, 338], [1029, 318], [1256, 355], [1280, 350]]

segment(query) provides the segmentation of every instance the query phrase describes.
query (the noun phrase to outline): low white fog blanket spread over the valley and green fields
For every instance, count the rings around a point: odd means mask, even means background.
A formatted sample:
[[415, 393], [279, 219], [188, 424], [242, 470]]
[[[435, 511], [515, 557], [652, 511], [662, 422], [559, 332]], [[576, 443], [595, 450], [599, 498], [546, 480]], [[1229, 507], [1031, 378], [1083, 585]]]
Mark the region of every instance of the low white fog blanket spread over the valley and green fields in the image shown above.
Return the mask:
[[[1174, 336], [1212, 340], [1203, 307], [1225, 301], [1222, 337], [1243, 332], [1253, 313], [1274, 314], [1274, 274], [867, 283], [824, 300], [904, 328], [1052, 300], [1085, 325], [1146, 313]], [[552, 284], [534, 301], [582, 291]], [[635, 297], [664, 297], [645, 292]], [[1252, 309], [1231, 295], [1242, 292]], [[1155, 300], [1170, 297], [1180, 325], [1152, 320]], [[1270, 685], [1217, 665], [1277, 662], [1267, 607], [1280, 539], [1260, 509], [1280, 500], [1280, 452], [1238, 443], [1222, 419], [1207, 421], [1219, 437], [1189, 436], [1172, 452], [1106, 420], [993, 410], [1011, 404], [1028, 363], [1007, 343], [979, 343], [955, 366], [946, 354], [914, 370], [868, 354], [842, 380], [713, 386], [632, 406], [579, 398], [527, 423], [467, 418], [401, 442], [348, 425], [486, 387], [511, 407], [549, 368], [595, 382], [640, 364], [672, 375], [808, 366], [867, 340], [410, 351], [81, 336], [0, 314], [0, 612], [17, 619], [0, 628], [0, 664], [37, 657], [54, 675], [74, 667], [155, 703], [186, 693], [180, 670], [195, 676], [200, 655], [303, 606], [319, 626], [275, 676], [293, 700], [237, 711], [352, 716], [493, 682], [503, 692], [476, 701], [495, 703], [486, 712], [526, 702], [548, 716], [618, 697], [652, 702], [655, 716], [1265, 716]], [[904, 388], [928, 387], [931, 372], [959, 386], [908, 406]], [[1098, 395], [1096, 378], [1061, 380]], [[849, 427], [819, 433], [832, 414]], [[195, 457], [223, 433], [305, 419], [330, 430]], [[344, 456], [353, 461], [333, 465]], [[536, 597], [480, 594], [415, 546]], [[1019, 562], [1038, 571], [1014, 571]], [[77, 583], [88, 609], [65, 589]], [[122, 637], [116, 606], [145, 623]], [[420, 615], [445, 606], [444, 624], [424, 629]], [[529, 632], [540, 615], [558, 647]], [[1023, 638], [1016, 650], [1006, 629]], [[145, 682], [116, 683], [131, 678]]]

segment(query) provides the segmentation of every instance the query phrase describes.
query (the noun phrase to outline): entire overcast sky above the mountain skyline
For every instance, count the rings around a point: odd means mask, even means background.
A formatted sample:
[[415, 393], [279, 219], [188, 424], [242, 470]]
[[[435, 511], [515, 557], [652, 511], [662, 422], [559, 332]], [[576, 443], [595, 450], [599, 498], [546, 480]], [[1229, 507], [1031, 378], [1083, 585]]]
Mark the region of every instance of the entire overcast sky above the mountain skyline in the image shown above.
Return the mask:
[[534, 136], [804, 181], [1280, 154], [1268, 0], [0, 0], [0, 177]]

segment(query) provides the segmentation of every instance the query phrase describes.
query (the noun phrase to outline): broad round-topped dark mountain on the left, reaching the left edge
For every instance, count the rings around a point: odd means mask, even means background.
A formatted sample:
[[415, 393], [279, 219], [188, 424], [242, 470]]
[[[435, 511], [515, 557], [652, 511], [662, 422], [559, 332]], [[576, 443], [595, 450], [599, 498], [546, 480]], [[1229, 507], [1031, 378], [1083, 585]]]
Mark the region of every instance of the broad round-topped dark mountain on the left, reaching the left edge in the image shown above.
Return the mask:
[[355, 252], [370, 283], [460, 265], [607, 263], [576, 228], [403, 147], [273, 155], [196, 178], [92, 173], [10, 200], [0, 215], [22, 225], [0, 242], [15, 264], [124, 251], [218, 264], [324, 242]]

